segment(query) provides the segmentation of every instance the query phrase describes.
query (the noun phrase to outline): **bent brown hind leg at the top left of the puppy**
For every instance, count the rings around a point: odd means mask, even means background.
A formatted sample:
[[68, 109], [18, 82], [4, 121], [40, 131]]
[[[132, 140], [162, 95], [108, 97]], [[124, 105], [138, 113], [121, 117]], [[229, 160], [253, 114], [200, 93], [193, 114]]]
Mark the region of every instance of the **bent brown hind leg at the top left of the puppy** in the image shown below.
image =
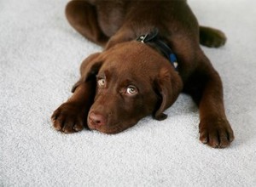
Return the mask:
[[66, 16], [70, 25], [91, 42], [101, 46], [108, 42], [98, 24], [95, 6], [84, 0], [73, 0], [67, 3]]

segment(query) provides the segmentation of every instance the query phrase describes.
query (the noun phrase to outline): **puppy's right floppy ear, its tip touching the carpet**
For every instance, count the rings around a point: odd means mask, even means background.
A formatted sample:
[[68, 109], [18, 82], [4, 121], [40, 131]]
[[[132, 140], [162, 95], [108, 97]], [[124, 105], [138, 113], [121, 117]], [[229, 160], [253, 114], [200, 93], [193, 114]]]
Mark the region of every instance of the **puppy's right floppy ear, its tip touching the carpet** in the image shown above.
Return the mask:
[[160, 70], [159, 77], [155, 80], [156, 89], [160, 94], [160, 105], [154, 113], [156, 120], [166, 119], [166, 114], [163, 113], [168, 107], [170, 107], [180, 94], [183, 83], [177, 72], [164, 67]]

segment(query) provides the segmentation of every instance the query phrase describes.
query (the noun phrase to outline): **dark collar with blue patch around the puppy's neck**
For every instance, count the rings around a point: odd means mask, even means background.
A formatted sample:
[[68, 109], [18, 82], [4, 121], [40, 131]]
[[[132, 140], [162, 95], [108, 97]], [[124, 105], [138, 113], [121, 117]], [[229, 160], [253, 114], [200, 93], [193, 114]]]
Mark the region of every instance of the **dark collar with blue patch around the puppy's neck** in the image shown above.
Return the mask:
[[172, 49], [166, 45], [165, 42], [159, 39], [158, 32], [159, 32], [158, 29], [154, 28], [154, 30], [151, 31], [149, 34], [137, 37], [137, 41], [143, 42], [143, 43], [154, 43], [156, 48], [160, 49], [160, 51], [166, 56], [167, 59], [169, 59], [172, 66], [177, 71], [178, 64], [177, 64], [176, 55], [172, 52]]

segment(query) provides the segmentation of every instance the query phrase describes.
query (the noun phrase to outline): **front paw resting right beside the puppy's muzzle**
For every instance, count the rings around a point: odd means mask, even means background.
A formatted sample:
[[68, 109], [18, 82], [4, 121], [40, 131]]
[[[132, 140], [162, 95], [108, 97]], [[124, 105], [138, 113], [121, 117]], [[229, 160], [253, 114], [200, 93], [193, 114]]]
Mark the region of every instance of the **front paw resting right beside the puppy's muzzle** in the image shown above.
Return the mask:
[[75, 133], [84, 128], [86, 111], [74, 102], [63, 103], [51, 116], [53, 126], [63, 133]]

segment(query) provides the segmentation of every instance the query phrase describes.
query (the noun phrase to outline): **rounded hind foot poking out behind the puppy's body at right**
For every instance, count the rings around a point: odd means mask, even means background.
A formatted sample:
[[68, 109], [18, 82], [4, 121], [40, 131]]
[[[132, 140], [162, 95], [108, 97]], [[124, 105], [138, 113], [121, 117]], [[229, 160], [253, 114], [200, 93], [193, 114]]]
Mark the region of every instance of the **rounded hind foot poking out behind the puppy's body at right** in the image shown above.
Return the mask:
[[206, 26], [200, 26], [200, 43], [209, 48], [218, 48], [225, 44], [224, 32]]

